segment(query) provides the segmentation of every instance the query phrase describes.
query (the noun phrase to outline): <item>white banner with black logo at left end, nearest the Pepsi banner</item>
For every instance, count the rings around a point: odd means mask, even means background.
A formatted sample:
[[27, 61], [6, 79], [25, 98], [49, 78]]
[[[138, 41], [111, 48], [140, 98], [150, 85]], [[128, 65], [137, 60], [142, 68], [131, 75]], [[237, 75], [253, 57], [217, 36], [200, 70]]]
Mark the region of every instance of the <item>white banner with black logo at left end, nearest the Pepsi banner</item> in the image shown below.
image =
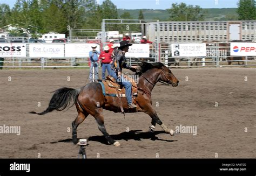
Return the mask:
[[172, 57], [205, 57], [206, 44], [172, 44]]

